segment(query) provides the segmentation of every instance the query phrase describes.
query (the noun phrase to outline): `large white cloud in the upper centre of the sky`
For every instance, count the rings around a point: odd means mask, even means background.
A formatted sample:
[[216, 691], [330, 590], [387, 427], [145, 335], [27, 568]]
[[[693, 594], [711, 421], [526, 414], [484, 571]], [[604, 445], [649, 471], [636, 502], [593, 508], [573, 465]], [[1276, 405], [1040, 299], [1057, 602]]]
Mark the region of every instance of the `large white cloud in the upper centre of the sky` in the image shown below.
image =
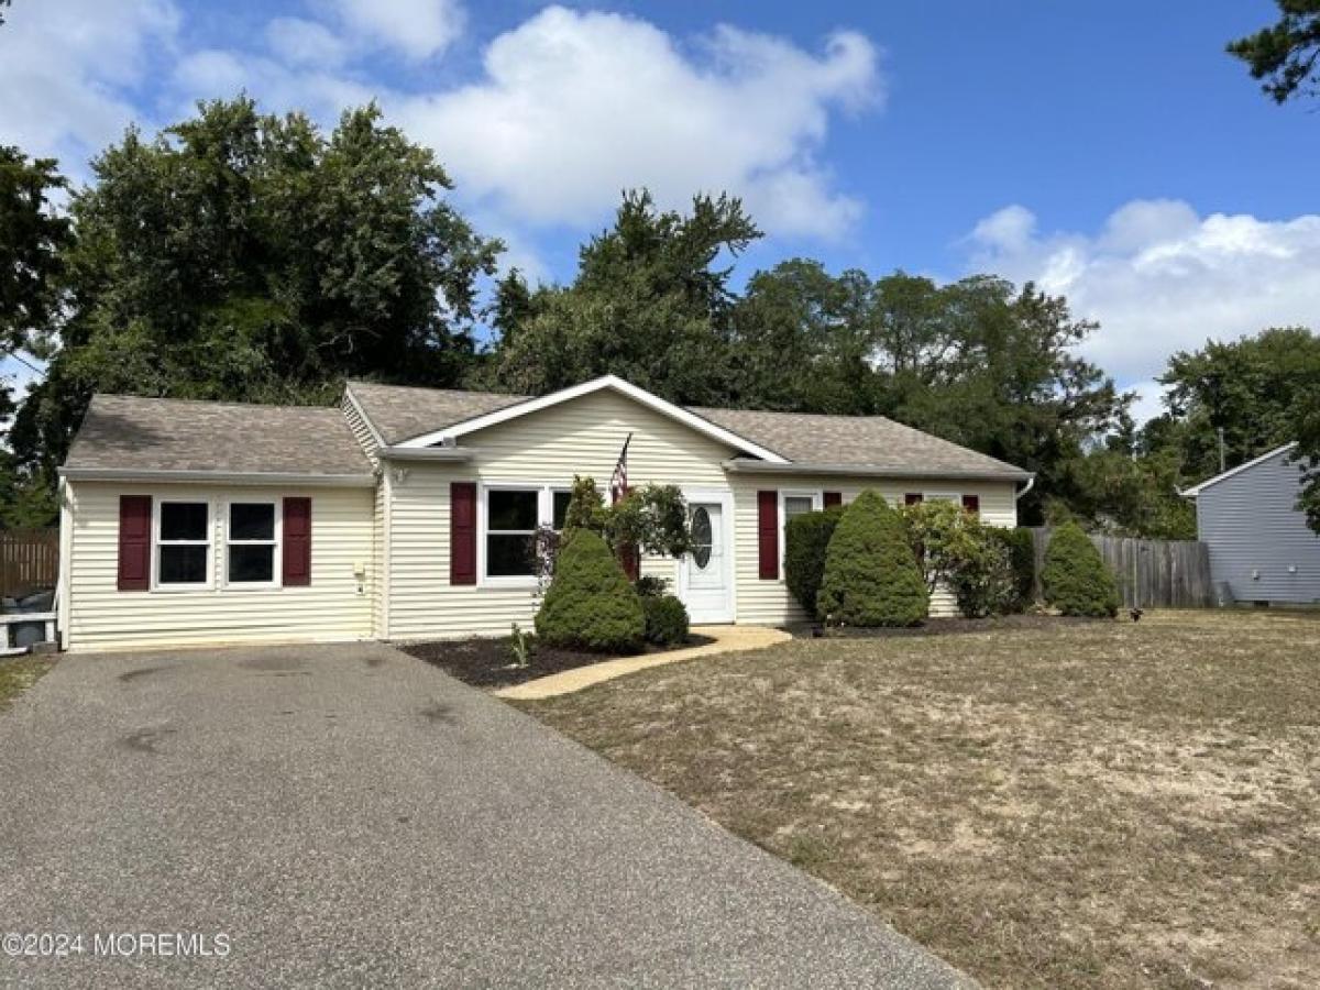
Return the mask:
[[387, 103], [461, 187], [531, 223], [581, 226], [647, 186], [665, 206], [742, 195], [771, 234], [840, 236], [861, 205], [814, 160], [834, 107], [880, 98], [878, 55], [723, 26], [692, 50], [659, 28], [552, 7], [495, 38], [486, 77]]

